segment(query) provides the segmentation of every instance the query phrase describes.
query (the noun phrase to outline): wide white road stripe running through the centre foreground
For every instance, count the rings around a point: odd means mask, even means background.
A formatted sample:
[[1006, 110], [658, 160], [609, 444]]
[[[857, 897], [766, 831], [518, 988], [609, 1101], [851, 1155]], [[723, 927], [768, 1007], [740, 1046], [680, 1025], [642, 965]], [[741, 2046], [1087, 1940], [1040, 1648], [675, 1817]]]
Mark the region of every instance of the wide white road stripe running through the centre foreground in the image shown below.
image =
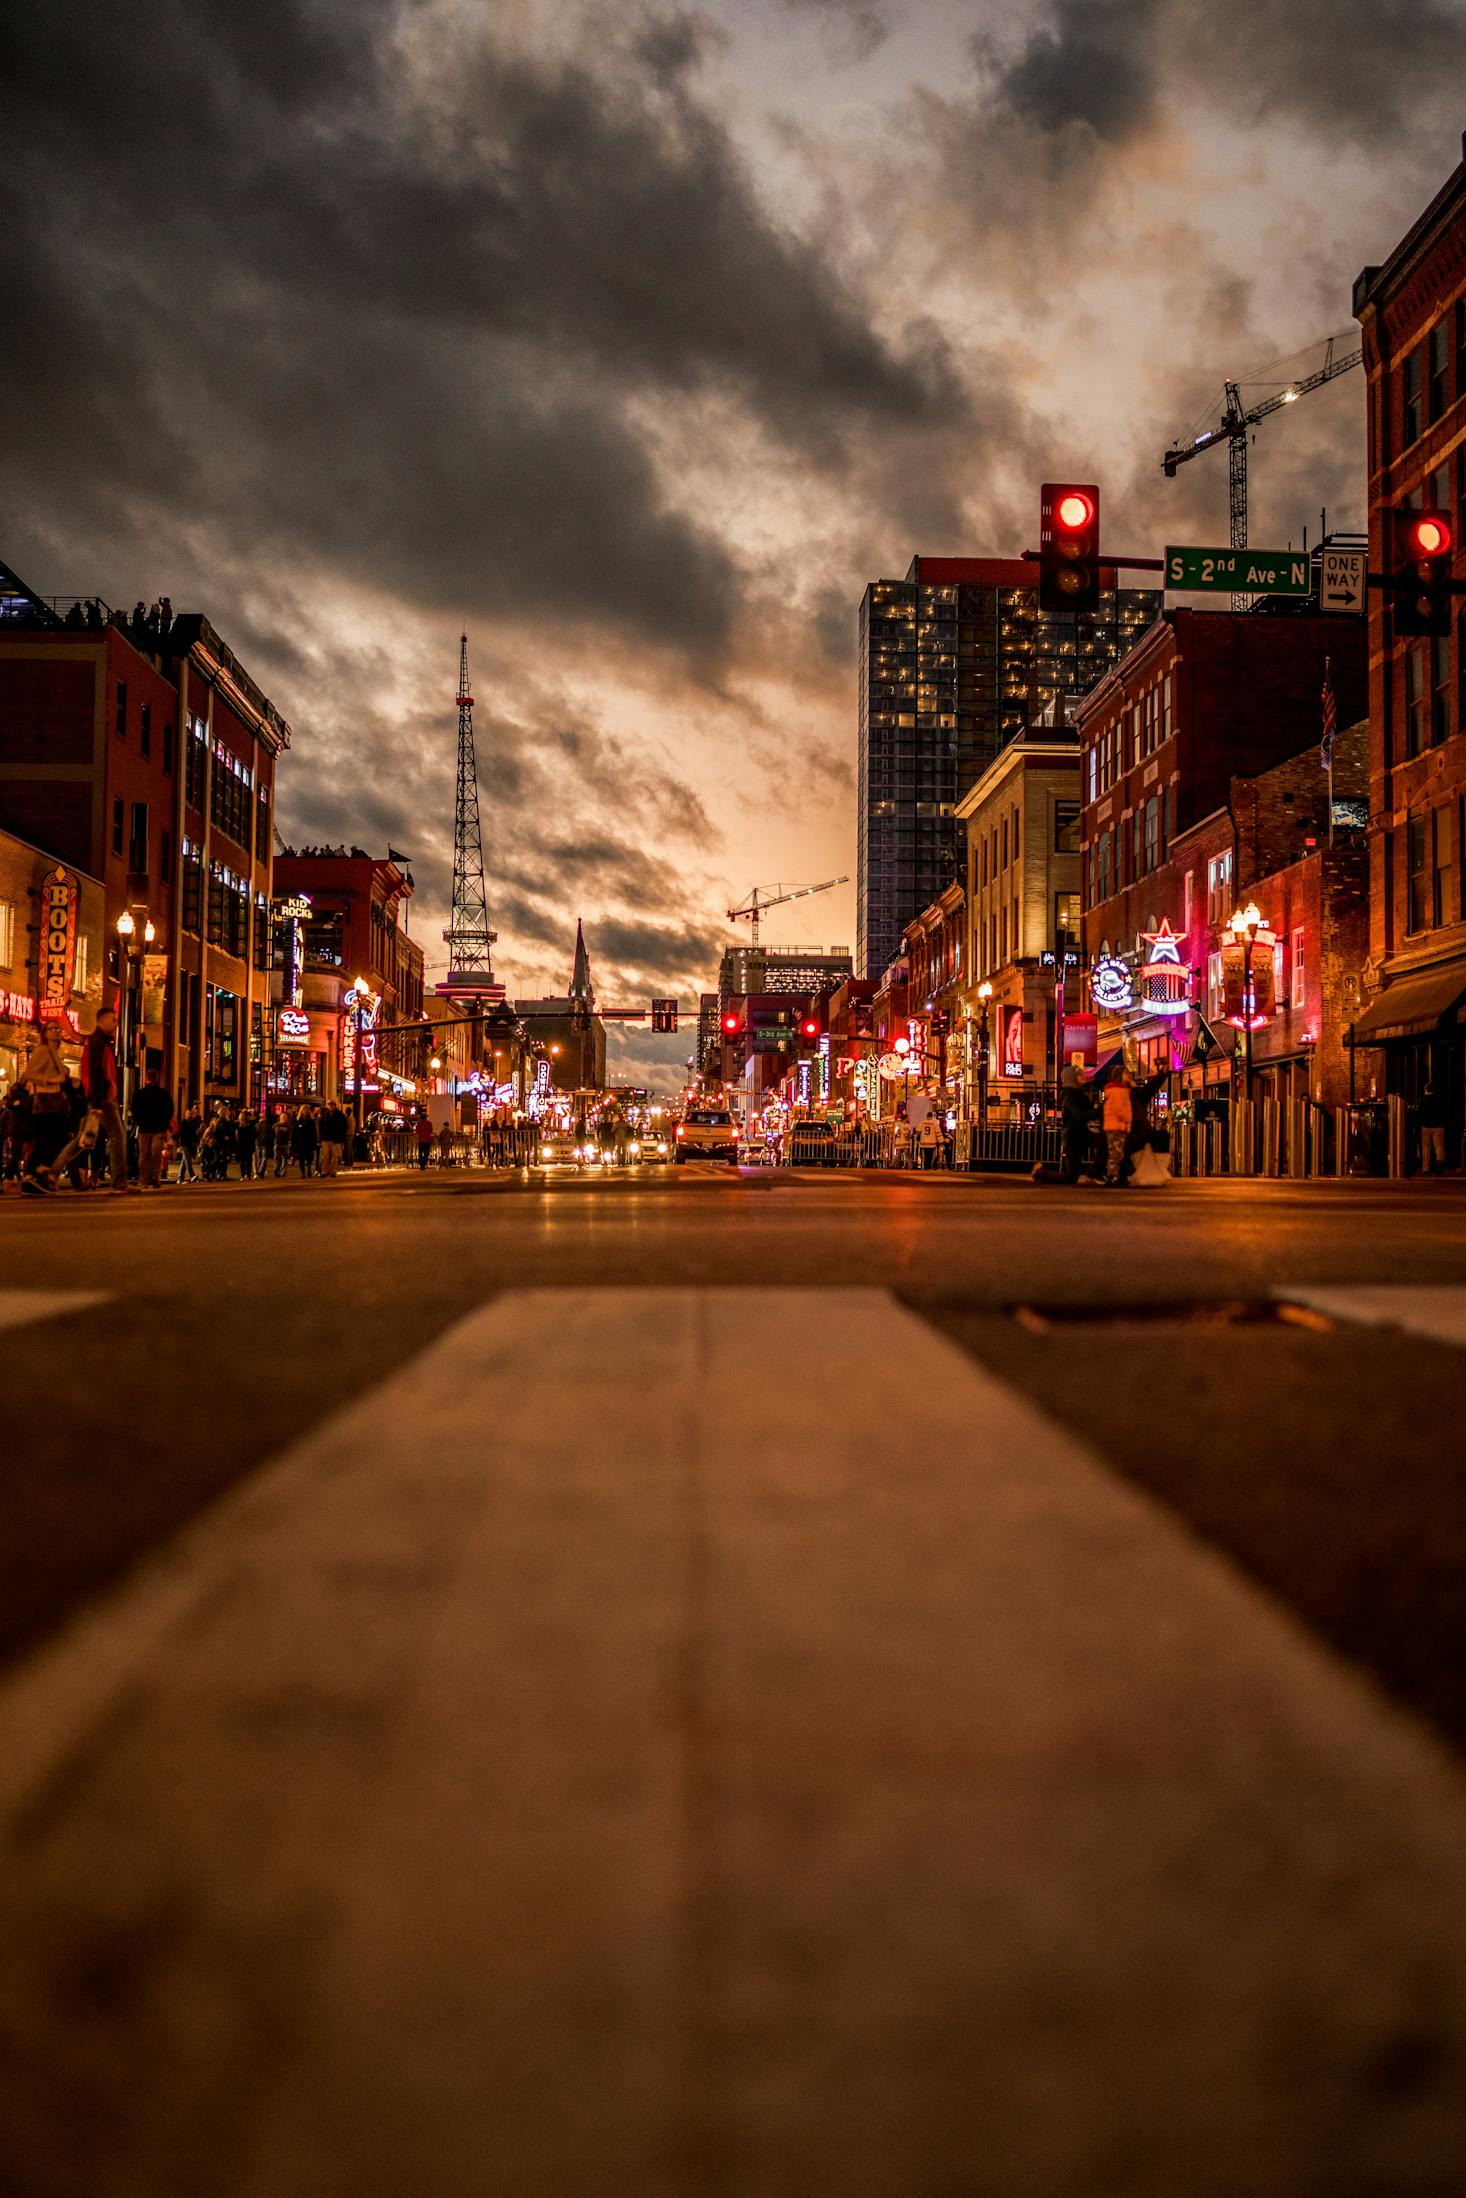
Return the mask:
[[473, 1312], [0, 1690], [0, 1820], [22, 2185], [1466, 2156], [1459, 1772], [879, 1290]]

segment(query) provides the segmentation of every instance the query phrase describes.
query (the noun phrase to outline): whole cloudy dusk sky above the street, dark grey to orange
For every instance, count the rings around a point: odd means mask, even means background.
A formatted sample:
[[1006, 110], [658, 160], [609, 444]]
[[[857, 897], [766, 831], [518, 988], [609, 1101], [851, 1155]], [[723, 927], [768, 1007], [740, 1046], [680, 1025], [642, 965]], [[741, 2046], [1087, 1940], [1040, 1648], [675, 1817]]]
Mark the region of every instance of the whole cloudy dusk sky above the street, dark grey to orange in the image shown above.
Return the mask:
[[[207, 609], [286, 833], [407, 848], [431, 956], [466, 622], [503, 976], [580, 912], [690, 1000], [730, 897], [855, 870], [866, 578], [1026, 547], [1046, 473], [1224, 539], [1163, 446], [1350, 325], [1462, 81], [1464, 0], [15, 7], [0, 556]], [[1253, 539], [1361, 457], [1358, 376], [1264, 426]]]

